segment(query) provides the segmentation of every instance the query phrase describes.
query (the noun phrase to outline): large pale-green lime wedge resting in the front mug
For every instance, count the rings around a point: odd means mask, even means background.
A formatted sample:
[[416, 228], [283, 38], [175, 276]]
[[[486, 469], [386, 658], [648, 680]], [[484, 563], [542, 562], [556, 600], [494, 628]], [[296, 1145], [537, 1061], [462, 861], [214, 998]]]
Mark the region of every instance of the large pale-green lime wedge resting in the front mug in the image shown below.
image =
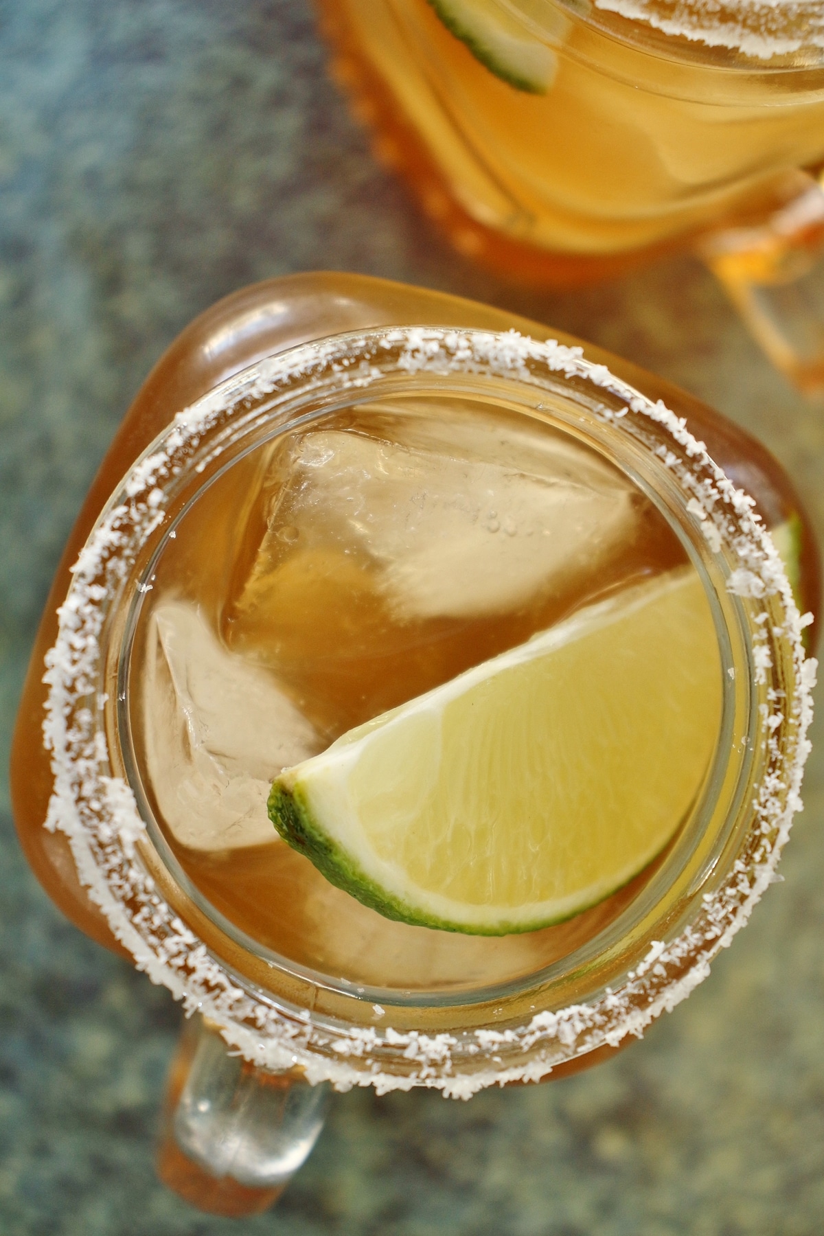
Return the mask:
[[389, 918], [534, 931], [636, 875], [696, 801], [720, 669], [692, 569], [589, 606], [280, 774], [269, 817]]

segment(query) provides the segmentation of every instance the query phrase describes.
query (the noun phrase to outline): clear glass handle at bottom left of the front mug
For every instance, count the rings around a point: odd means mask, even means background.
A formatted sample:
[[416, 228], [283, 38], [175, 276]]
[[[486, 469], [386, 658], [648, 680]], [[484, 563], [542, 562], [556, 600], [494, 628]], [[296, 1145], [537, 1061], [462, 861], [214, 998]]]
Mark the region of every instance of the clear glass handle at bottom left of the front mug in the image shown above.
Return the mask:
[[230, 1053], [220, 1027], [188, 1021], [167, 1080], [157, 1168], [190, 1205], [237, 1217], [279, 1198], [320, 1133], [330, 1088]]

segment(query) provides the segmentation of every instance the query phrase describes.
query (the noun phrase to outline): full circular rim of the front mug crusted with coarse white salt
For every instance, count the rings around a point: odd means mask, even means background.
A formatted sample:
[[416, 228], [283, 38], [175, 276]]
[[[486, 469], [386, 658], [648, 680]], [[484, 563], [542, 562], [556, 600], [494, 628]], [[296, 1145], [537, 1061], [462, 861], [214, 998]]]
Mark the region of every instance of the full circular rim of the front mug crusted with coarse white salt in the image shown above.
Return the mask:
[[[106, 701], [96, 692], [107, 603], [122, 586], [135, 554], [164, 520], [161, 483], [180, 471], [209, 430], [247, 412], [250, 400], [277, 397], [295, 386], [311, 389], [324, 372], [335, 376], [338, 389], [364, 389], [393, 372], [373, 363], [382, 352], [384, 357], [395, 353], [393, 365], [401, 373], [514, 377], [539, 388], [540, 373], [530, 366], [544, 365], [567, 378], [588, 379], [624, 402], [619, 412], [602, 412], [619, 430], [626, 429], [630, 412], [663, 426], [691, 460], [687, 466], [673, 451], [657, 450], [691, 494], [689, 515], [712, 551], [724, 545], [741, 564], [728, 580], [729, 591], [754, 604], [778, 597], [783, 609], [776, 623], [765, 607], [754, 635], [755, 681], [767, 681], [773, 664], [771, 641], [786, 640], [796, 692], [786, 717], [772, 688], [767, 691], [771, 702], [760, 706], [757, 724], [766, 759], [762, 776], [752, 786], [755, 818], [747, 832], [752, 838], [747, 861], [736, 860], [720, 887], [704, 895], [702, 908], [684, 931], [670, 941], [654, 941], [620, 988], [607, 989], [588, 1004], [539, 1011], [516, 1028], [456, 1035], [400, 1032], [384, 1025], [340, 1023], [330, 1028], [327, 1021], [314, 1021], [305, 1010], [288, 1012], [274, 1007], [262, 993], [245, 990], [182, 922], [138, 860], [136, 842], [145, 836], [145, 824], [131, 787], [111, 775], [100, 723]], [[198, 471], [204, 466], [200, 461]], [[792, 817], [802, 806], [817, 667], [804, 654], [802, 629], [813, 619], [812, 614], [799, 616], [781, 559], [754, 506], [710, 459], [704, 444], [689, 434], [683, 419], [605, 366], [586, 361], [579, 347], [541, 342], [515, 331], [413, 326], [336, 336], [269, 357], [178, 413], [131, 467], [72, 569], [43, 677], [48, 687], [43, 735], [54, 776], [44, 827], [68, 837], [80, 883], [137, 968], [182, 1000], [188, 1015], [199, 1011], [217, 1022], [226, 1042], [258, 1067], [277, 1072], [300, 1065], [313, 1084], [329, 1080], [340, 1090], [373, 1085], [385, 1093], [424, 1085], [466, 1099], [489, 1085], [539, 1080], [561, 1060], [604, 1044], [615, 1047], [626, 1035], [640, 1037], [655, 1017], [673, 1009], [707, 976], [712, 958], [746, 923], [773, 880]], [[378, 1016], [383, 1015], [380, 1009]], [[383, 1068], [387, 1057], [403, 1058], [408, 1072]], [[479, 1060], [488, 1058], [490, 1067], [479, 1068]]]

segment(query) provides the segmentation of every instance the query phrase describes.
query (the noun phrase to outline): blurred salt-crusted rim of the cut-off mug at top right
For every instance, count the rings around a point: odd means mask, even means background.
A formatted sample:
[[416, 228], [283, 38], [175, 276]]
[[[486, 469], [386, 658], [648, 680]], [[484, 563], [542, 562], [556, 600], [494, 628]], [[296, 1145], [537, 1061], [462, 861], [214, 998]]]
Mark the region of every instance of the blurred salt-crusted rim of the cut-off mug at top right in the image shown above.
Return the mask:
[[824, 10], [817, 0], [594, 0], [594, 5], [665, 35], [760, 61], [824, 47]]

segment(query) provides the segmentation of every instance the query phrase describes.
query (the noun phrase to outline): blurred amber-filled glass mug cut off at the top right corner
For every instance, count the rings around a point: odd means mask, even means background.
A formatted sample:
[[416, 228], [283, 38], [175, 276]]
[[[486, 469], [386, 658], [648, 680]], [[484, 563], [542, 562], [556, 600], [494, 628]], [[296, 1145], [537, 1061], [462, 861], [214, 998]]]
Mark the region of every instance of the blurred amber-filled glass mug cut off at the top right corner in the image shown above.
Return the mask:
[[528, 282], [687, 242], [824, 386], [820, 5], [319, 0], [334, 74], [466, 256]]

